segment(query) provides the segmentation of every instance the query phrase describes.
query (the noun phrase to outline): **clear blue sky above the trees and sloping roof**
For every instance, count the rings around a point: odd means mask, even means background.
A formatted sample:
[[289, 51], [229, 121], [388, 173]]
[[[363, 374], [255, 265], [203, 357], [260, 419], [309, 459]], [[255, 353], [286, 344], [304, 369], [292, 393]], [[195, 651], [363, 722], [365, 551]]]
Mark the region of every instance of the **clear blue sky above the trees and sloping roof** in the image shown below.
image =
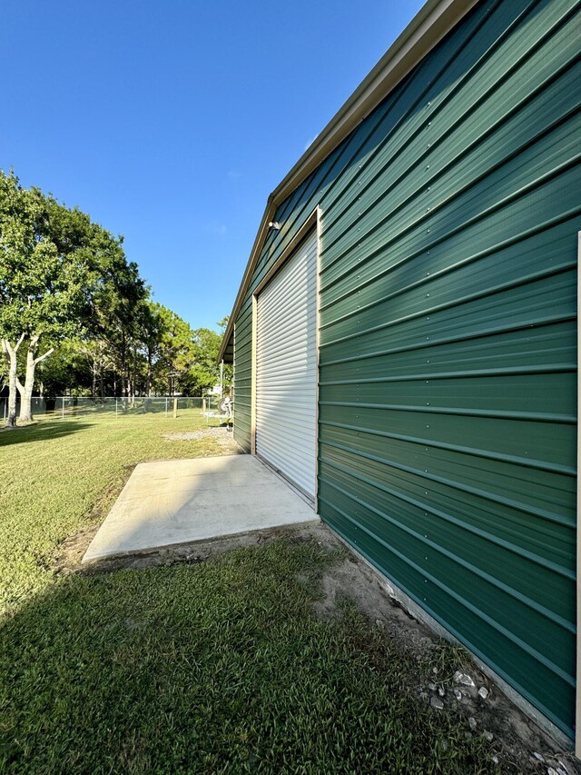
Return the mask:
[[155, 300], [215, 328], [268, 194], [421, 5], [9, 0], [0, 167], [123, 233]]

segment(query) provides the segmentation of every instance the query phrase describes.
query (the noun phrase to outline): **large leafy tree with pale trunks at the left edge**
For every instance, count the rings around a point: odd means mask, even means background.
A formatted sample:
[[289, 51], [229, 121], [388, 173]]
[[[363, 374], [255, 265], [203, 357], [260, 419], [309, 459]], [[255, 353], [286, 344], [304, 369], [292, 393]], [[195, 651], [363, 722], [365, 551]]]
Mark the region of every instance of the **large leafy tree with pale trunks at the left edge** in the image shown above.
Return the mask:
[[[125, 259], [122, 242], [78, 208], [69, 209], [37, 188], [26, 190], [12, 171], [0, 170], [0, 338], [9, 371], [8, 424], [15, 424], [16, 390], [20, 420], [32, 419], [38, 363], [57, 343], [84, 335], [105, 316], [104, 329], [116, 330], [123, 341], [125, 378], [126, 327], [146, 291], [137, 265]], [[17, 374], [23, 344], [24, 384]]]

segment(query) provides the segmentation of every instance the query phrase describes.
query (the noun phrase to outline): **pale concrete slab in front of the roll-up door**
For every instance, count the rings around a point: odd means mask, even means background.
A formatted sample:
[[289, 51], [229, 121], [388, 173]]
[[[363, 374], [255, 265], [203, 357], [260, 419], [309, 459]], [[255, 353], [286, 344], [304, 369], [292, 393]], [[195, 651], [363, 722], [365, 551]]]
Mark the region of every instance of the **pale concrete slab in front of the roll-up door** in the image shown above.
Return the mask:
[[319, 518], [289, 484], [251, 455], [143, 462], [83, 561], [301, 522]]

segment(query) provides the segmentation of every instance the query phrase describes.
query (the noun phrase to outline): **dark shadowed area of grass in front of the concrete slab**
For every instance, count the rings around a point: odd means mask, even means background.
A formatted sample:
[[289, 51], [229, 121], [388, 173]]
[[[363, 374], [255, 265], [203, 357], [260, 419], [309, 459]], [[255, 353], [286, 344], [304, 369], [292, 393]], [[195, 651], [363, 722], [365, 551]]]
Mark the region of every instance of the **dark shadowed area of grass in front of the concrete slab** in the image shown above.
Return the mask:
[[274, 542], [57, 580], [0, 625], [3, 772], [493, 772], [409, 691], [354, 609], [312, 613], [336, 555]]

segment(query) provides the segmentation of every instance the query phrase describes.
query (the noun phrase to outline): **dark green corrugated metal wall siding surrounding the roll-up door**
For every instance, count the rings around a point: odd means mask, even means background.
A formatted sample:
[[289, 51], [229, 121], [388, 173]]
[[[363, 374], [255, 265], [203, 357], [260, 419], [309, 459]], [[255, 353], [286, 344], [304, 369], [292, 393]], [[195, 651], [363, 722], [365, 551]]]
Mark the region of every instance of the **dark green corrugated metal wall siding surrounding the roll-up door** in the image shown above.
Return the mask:
[[569, 733], [578, 30], [572, 0], [478, 5], [281, 205], [252, 279], [319, 204], [320, 514]]

